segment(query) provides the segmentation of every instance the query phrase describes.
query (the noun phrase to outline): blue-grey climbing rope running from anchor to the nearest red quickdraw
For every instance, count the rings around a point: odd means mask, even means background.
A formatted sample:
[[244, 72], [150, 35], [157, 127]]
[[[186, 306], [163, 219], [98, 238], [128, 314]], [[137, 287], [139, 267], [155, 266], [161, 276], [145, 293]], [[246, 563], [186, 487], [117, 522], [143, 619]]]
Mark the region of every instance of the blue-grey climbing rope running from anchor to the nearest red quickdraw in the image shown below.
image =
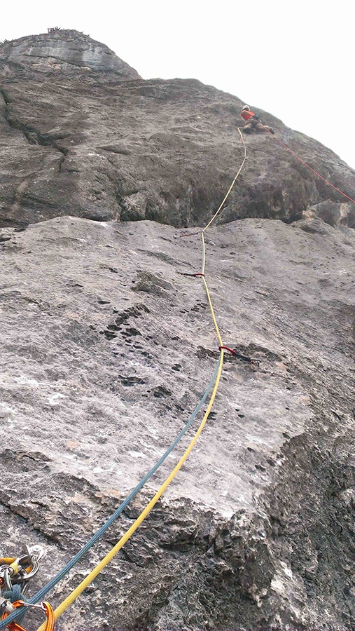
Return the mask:
[[[81, 548], [81, 550], [79, 550], [79, 552], [76, 553], [76, 555], [67, 563], [67, 565], [64, 565], [64, 567], [58, 572], [58, 574], [53, 576], [53, 578], [51, 578], [50, 581], [48, 581], [46, 585], [43, 585], [43, 588], [41, 588], [39, 592], [37, 592], [34, 596], [32, 596], [31, 599], [27, 601], [29, 604], [36, 604], [36, 602], [40, 602], [43, 599], [43, 597], [46, 594], [48, 594], [48, 592], [52, 590], [55, 587], [55, 585], [57, 585], [57, 583], [59, 583], [62, 580], [62, 578], [64, 578], [64, 576], [78, 563], [78, 561], [80, 561], [81, 557], [83, 557], [83, 555], [85, 555], [85, 553], [88, 552], [88, 550], [90, 550], [92, 545], [94, 545], [97, 541], [99, 541], [99, 538], [102, 537], [104, 532], [106, 532], [106, 530], [113, 524], [113, 522], [117, 519], [117, 517], [123, 512], [123, 510], [127, 508], [128, 504], [132, 501], [132, 499], [137, 495], [137, 493], [141, 490], [141, 488], [144, 487], [144, 484], [146, 484], [149, 478], [152, 477], [152, 475], [155, 473], [156, 470], [158, 470], [160, 465], [162, 465], [165, 459], [167, 459], [167, 456], [171, 454], [174, 447], [176, 447], [176, 445], [181, 440], [183, 435], [187, 432], [188, 428], [192, 425], [193, 421], [195, 421], [197, 414], [200, 412], [200, 409], [202, 408], [202, 405], [204, 405], [204, 402], [206, 401], [211, 389], [214, 386], [214, 382], [216, 381], [216, 376], [218, 373], [218, 368], [219, 368], [220, 363], [221, 363], [221, 355], [218, 359], [211, 381], [209, 382], [209, 385], [207, 386], [206, 391], [204, 391], [204, 395], [202, 396], [200, 403], [195, 408], [193, 414], [191, 414], [190, 419], [188, 419], [188, 422], [183, 427], [179, 435], [176, 436], [174, 442], [172, 442], [172, 445], [170, 445], [169, 449], [167, 449], [165, 454], [163, 454], [161, 458], [158, 460], [158, 462], [155, 463], [153, 468], [148, 473], [146, 473], [144, 477], [142, 477], [141, 481], [137, 484], [137, 487], [135, 487], [133, 491], [130, 493], [130, 495], [128, 495], [127, 498], [125, 498], [123, 503], [120, 504], [120, 506], [115, 510], [115, 512], [111, 515], [111, 517], [109, 517], [109, 519], [104, 523], [104, 525], [95, 533], [95, 535], [92, 536], [92, 538], [88, 541], [88, 543], [85, 543], [83, 548]], [[23, 609], [21, 610], [21, 613], [23, 613]], [[18, 616], [20, 616], [20, 611], [15, 611], [14, 613], [11, 613], [10, 616], [6, 618], [6, 620], [0, 620], [0, 630], [5, 629], [5, 627], [9, 623], [13, 622], [13, 620], [18, 618]]]

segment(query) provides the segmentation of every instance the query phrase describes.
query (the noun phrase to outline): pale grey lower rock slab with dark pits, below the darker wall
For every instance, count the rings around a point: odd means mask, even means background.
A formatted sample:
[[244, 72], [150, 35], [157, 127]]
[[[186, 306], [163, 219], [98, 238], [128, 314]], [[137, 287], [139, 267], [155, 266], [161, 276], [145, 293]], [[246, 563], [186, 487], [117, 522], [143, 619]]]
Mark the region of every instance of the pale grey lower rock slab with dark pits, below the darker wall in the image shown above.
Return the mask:
[[[0, 554], [46, 548], [30, 595], [158, 460], [214, 372], [202, 283], [176, 273], [201, 266], [184, 232], [79, 217], [1, 230]], [[223, 341], [260, 365], [225, 358], [186, 465], [59, 631], [354, 628], [354, 230], [249, 218], [206, 240]]]

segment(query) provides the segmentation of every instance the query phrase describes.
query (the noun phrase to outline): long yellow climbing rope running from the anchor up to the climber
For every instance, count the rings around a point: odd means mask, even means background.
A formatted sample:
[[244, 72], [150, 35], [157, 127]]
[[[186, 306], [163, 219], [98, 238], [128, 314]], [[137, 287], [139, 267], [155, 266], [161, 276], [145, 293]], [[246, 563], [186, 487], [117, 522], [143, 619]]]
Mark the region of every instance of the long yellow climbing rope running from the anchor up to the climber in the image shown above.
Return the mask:
[[[246, 161], [246, 147], [245, 147], [245, 144], [244, 144], [244, 139], [243, 139], [242, 133], [241, 133], [239, 128], [238, 128], [238, 131], [239, 131], [239, 135], [240, 135], [240, 137], [242, 139], [242, 143], [244, 145], [244, 158], [243, 158], [242, 164], [241, 164], [241, 166], [240, 166], [240, 168], [239, 168], [239, 170], [237, 172], [237, 175], [235, 176], [235, 179], [233, 179], [233, 182], [230, 185], [230, 188], [228, 189], [228, 193], [225, 195], [225, 198], [223, 199], [223, 202], [219, 206], [218, 210], [215, 212], [215, 214], [212, 217], [211, 221], [209, 221], [207, 226], [205, 226], [204, 229], [201, 232], [201, 236], [202, 236], [202, 281], [203, 281], [203, 284], [204, 284], [204, 290], [206, 291], [206, 294], [207, 294], [207, 299], [209, 301], [209, 308], [211, 309], [212, 320], [214, 322], [214, 327], [216, 329], [216, 334], [217, 334], [218, 342], [219, 342], [219, 345], [220, 345], [220, 358], [219, 358], [218, 372], [217, 372], [217, 376], [216, 376], [216, 383], [214, 384], [214, 389], [212, 391], [211, 399], [209, 400], [209, 404], [207, 406], [207, 410], [206, 410], [206, 412], [204, 414], [204, 417], [203, 417], [203, 419], [202, 419], [202, 421], [200, 423], [200, 427], [197, 429], [197, 432], [195, 433], [195, 435], [193, 437], [193, 440], [191, 440], [190, 445], [188, 445], [188, 448], [186, 449], [186, 452], [183, 454], [183, 456], [181, 456], [181, 459], [176, 464], [175, 468], [172, 470], [172, 473], [170, 473], [170, 475], [167, 477], [165, 482], [163, 482], [163, 484], [160, 487], [160, 489], [158, 489], [158, 491], [155, 493], [155, 496], [147, 504], [146, 508], [144, 508], [144, 510], [142, 510], [142, 512], [139, 515], [139, 517], [137, 517], [137, 520], [135, 520], [135, 522], [132, 524], [132, 526], [125, 532], [125, 534], [120, 538], [120, 540], [116, 543], [116, 545], [113, 546], [113, 548], [106, 555], [106, 557], [104, 557], [104, 559], [102, 559], [97, 564], [97, 566], [90, 572], [90, 574], [88, 574], [88, 576], [85, 576], [83, 581], [81, 581], [81, 583], [71, 592], [71, 594], [69, 594], [69, 596], [67, 596], [67, 598], [64, 599], [60, 603], [59, 606], [57, 606], [57, 609], [55, 609], [55, 611], [54, 611], [55, 620], [57, 620], [57, 618], [59, 618], [62, 615], [62, 613], [64, 613], [64, 611], [66, 609], [68, 609], [68, 607], [78, 598], [78, 596], [81, 595], [81, 593], [90, 585], [90, 583], [92, 583], [92, 581], [94, 581], [94, 579], [97, 577], [97, 575], [104, 569], [104, 567], [106, 567], [107, 564], [109, 564], [109, 562], [117, 554], [118, 550], [120, 550], [123, 547], [123, 545], [125, 545], [125, 543], [128, 541], [128, 539], [132, 536], [132, 534], [134, 534], [134, 532], [137, 530], [137, 528], [139, 528], [141, 523], [149, 515], [151, 510], [154, 508], [155, 504], [158, 502], [158, 500], [160, 499], [160, 497], [162, 496], [164, 491], [169, 486], [170, 482], [172, 482], [172, 480], [174, 480], [174, 477], [176, 476], [176, 474], [179, 472], [179, 470], [183, 466], [183, 463], [188, 458], [188, 455], [190, 454], [190, 452], [193, 450], [193, 447], [195, 446], [195, 444], [197, 442], [197, 439], [200, 436], [200, 434], [202, 433], [204, 425], [206, 424], [206, 421], [207, 421], [208, 416], [209, 416], [209, 412], [211, 412], [211, 407], [212, 407], [212, 405], [214, 405], [214, 400], [216, 398], [216, 394], [217, 394], [217, 391], [218, 391], [219, 382], [221, 381], [224, 351], [223, 351], [223, 348], [221, 348], [221, 347], [223, 347], [223, 341], [222, 341], [222, 337], [221, 337], [221, 332], [218, 329], [218, 323], [217, 323], [217, 320], [216, 320], [216, 315], [214, 313], [214, 308], [213, 308], [212, 301], [211, 301], [211, 294], [209, 293], [209, 287], [207, 285], [207, 280], [206, 280], [206, 278], [204, 276], [204, 270], [205, 270], [205, 267], [206, 267], [206, 245], [205, 245], [205, 242], [204, 242], [204, 232], [207, 230], [207, 228], [209, 228], [209, 226], [211, 226], [211, 224], [214, 222], [214, 219], [216, 219], [216, 217], [219, 214], [219, 212], [221, 212], [221, 210], [223, 208], [223, 205], [225, 204], [225, 201], [227, 201], [228, 196], [230, 195], [230, 192], [232, 191], [232, 188], [235, 185], [237, 177], [239, 176], [239, 173], [242, 171], [242, 168], [243, 168], [244, 163]], [[45, 624], [41, 625], [41, 627], [39, 627], [38, 631], [46, 631], [46, 625]]]

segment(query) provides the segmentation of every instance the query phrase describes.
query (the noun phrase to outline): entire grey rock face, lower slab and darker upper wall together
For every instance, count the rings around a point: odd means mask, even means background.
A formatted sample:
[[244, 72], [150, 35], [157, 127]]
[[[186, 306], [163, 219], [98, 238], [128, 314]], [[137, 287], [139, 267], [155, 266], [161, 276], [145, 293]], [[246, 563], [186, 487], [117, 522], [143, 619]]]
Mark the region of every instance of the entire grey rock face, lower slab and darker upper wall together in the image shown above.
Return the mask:
[[[159, 459], [214, 372], [203, 285], [177, 273], [200, 271], [200, 236], [174, 226], [203, 224], [228, 189], [240, 102], [112, 68], [2, 67], [0, 555], [46, 548], [31, 596]], [[334, 154], [263, 118], [351, 194]], [[271, 143], [246, 139], [246, 170], [206, 233], [223, 341], [260, 365], [225, 358], [186, 465], [58, 631], [355, 628], [355, 232], [350, 204]], [[160, 223], [128, 221], [147, 215]], [[54, 606], [192, 435], [50, 592]]]

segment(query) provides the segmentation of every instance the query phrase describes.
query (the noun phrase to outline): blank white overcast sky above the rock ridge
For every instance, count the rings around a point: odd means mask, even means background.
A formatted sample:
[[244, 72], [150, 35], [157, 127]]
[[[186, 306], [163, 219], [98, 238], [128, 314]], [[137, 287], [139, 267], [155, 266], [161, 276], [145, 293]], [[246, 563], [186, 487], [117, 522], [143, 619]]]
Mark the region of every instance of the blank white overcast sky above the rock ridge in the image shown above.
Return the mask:
[[350, 0], [19, 0], [2, 7], [0, 39], [78, 29], [144, 79], [200, 79], [355, 168], [354, 18]]

